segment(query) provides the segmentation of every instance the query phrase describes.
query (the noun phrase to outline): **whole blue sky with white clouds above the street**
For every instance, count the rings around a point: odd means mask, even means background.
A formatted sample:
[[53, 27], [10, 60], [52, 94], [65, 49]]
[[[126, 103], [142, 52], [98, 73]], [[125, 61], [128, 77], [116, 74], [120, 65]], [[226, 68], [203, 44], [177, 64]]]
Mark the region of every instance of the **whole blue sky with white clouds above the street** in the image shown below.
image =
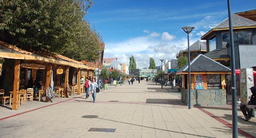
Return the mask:
[[[231, 0], [232, 13], [256, 9], [255, 0]], [[149, 66], [149, 58], [176, 58], [187, 48], [187, 35], [181, 29], [193, 26], [191, 44], [200, 40], [222, 20], [228, 18], [227, 1], [142, 1], [94, 0], [85, 19], [102, 36], [104, 58], [117, 57], [129, 66], [134, 55], [137, 68]]]

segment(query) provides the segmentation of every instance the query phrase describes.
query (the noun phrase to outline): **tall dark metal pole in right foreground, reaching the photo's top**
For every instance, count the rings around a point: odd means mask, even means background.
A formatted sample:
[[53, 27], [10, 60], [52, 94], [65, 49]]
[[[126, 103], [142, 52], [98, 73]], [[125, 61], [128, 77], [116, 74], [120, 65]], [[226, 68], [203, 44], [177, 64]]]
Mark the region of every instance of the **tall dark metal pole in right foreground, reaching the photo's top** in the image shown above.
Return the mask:
[[236, 91], [236, 74], [235, 74], [235, 61], [234, 61], [234, 37], [232, 16], [230, 8], [230, 0], [228, 0], [228, 13], [229, 13], [229, 37], [230, 37], [230, 56], [231, 56], [231, 76], [232, 76], [232, 135], [238, 137], [237, 131], [237, 91]]

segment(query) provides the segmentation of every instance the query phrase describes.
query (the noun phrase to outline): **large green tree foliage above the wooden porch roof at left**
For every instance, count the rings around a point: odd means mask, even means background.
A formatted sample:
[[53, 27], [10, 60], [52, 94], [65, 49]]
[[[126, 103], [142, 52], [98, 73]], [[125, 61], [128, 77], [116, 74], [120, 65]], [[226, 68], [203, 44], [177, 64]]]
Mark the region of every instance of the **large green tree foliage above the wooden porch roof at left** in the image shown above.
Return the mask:
[[96, 60], [101, 37], [84, 16], [90, 0], [1, 0], [0, 40], [25, 50]]

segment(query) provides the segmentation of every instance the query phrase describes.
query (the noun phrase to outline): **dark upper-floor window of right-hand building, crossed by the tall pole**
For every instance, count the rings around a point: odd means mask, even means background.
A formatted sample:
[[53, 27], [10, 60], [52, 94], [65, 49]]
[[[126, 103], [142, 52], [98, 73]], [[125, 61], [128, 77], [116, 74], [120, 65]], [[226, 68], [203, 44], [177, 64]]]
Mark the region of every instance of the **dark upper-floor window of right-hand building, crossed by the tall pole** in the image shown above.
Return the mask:
[[[229, 32], [222, 32], [222, 48], [230, 47]], [[252, 37], [251, 31], [236, 31], [234, 32], [234, 46], [251, 45]]]

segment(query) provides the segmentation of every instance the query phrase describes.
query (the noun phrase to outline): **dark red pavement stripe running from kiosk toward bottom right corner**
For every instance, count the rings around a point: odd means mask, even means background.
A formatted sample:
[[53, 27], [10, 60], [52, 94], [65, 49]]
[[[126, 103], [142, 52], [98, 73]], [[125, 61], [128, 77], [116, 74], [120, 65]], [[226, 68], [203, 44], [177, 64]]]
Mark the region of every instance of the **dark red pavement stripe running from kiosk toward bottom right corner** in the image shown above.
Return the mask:
[[[229, 127], [229, 128], [232, 128], [232, 124], [230, 124], [229, 122], [226, 122], [226, 120], [222, 119], [222, 118], [219, 118], [218, 116], [216, 115], [213, 115], [212, 113], [204, 110], [203, 108], [200, 108], [198, 107], [199, 110], [203, 111], [205, 114], [209, 115], [210, 117], [216, 119], [218, 122], [224, 124], [225, 126]], [[247, 133], [245, 131], [243, 131], [242, 129], [240, 128], [237, 128], [238, 129], [238, 133], [240, 133], [241, 135], [247, 137], [247, 138], [253, 138], [254, 136], [253, 135], [250, 135], [250, 133]]]

